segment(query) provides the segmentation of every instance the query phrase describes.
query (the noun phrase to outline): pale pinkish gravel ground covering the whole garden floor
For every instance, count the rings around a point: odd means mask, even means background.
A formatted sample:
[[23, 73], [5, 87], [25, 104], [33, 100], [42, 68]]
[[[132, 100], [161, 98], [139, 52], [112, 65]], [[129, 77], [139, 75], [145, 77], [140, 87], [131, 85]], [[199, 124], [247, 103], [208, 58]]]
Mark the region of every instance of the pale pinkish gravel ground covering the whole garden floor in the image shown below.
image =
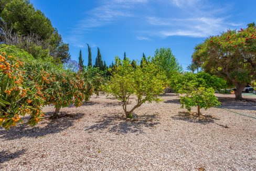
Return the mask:
[[256, 170], [256, 103], [218, 97], [222, 108], [197, 117], [165, 94], [135, 110], [137, 121], [117, 100], [92, 97], [60, 119], [0, 129], [0, 170]]

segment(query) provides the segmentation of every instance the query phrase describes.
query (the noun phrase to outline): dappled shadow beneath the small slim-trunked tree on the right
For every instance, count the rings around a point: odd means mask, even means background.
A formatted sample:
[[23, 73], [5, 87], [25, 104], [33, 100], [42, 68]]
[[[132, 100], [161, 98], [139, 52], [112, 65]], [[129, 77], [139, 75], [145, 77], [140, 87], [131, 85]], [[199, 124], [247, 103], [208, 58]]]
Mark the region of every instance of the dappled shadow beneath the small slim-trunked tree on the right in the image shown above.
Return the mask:
[[204, 125], [208, 123], [215, 123], [216, 120], [220, 120], [217, 117], [213, 117], [211, 115], [198, 116], [196, 113], [188, 113], [188, 112], [179, 112], [179, 114], [172, 116], [172, 119], [193, 122], [193, 123], [200, 123]]

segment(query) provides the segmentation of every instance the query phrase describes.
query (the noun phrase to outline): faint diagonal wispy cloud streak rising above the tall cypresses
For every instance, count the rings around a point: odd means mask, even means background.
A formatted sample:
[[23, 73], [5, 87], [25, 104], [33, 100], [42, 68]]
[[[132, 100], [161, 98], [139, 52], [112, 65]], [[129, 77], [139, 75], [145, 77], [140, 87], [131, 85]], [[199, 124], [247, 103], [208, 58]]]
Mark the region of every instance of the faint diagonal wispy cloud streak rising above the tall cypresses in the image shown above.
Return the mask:
[[89, 10], [86, 17], [71, 30], [67, 40], [73, 46], [80, 45], [80, 37], [93, 28], [102, 27], [115, 22], [115, 20], [133, 17], [132, 8], [137, 4], [145, 4], [148, 0], [101, 0], [100, 5]]

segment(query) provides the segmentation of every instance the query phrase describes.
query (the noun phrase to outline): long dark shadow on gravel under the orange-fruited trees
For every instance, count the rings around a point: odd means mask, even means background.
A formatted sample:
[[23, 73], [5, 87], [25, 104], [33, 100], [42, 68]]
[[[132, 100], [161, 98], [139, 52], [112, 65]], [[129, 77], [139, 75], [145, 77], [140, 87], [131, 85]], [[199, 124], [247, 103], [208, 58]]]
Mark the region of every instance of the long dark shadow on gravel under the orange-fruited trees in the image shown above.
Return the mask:
[[49, 114], [51, 113], [46, 113], [46, 119], [39, 122], [39, 124], [34, 127], [20, 124], [19, 126], [11, 127], [8, 131], [0, 130], [0, 139], [15, 140], [22, 137], [38, 138], [48, 134], [55, 134], [73, 126], [73, 122], [81, 119], [84, 115], [83, 113], [69, 114], [63, 112], [59, 119], [50, 120]]

